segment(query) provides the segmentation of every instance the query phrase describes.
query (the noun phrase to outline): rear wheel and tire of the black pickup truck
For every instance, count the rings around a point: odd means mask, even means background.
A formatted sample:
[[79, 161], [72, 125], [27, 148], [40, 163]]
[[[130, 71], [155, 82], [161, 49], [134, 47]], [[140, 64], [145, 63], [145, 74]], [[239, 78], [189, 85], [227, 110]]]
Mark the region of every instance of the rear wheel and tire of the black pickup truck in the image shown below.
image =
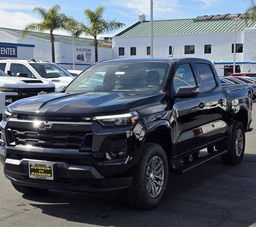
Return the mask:
[[228, 165], [239, 164], [245, 153], [245, 129], [241, 122], [235, 121], [233, 125], [231, 143], [228, 153], [221, 156], [221, 160]]

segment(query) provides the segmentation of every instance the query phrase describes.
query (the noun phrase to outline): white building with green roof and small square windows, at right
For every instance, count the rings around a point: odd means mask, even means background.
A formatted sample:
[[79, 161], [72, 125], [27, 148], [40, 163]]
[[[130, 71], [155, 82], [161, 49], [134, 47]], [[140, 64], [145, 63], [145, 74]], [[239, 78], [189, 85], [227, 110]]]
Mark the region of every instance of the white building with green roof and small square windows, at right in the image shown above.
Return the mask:
[[[240, 20], [237, 21], [236, 62], [241, 72], [248, 69], [256, 72], [255, 23], [246, 23], [242, 14], [237, 15]], [[153, 56], [205, 58], [214, 63], [219, 75], [233, 72], [234, 20], [229, 16], [154, 21]], [[113, 58], [149, 57], [149, 46], [150, 21], [141, 14], [139, 21], [113, 36]]]

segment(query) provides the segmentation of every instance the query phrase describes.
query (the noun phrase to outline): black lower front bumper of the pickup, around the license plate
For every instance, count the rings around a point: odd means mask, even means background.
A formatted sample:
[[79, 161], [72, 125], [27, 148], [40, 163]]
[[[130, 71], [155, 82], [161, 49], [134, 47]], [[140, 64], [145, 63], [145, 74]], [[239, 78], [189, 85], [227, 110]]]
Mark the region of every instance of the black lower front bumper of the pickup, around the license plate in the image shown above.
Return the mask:
[[94, 166], [74, 166], [61, 162], [54, 163], [54, 181], [31, 179], [28, 178], [29, 161], [35, 160], [7, 158], [4, 168], [5, 176], [16, 184], [72, 192], [126, 190], [130, 187], [133, 180], [132, 176], [106, 179]]

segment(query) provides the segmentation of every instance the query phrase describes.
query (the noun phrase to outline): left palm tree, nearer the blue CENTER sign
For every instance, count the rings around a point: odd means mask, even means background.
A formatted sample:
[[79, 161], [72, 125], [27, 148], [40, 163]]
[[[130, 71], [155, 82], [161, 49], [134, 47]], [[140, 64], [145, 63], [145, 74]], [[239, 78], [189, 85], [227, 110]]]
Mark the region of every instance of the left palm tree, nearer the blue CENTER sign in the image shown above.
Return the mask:
[[40, 33], [44, 31], [50, 32], [50, 42], [52, 50], [52, 61], [55, 62], [55, 50], [54, 50], [54, 35], [55, 30], [65, 30], [65, 21], [67, 16], [63, 13], [59, 13], [60, 6], [58, 4], [53, 5], [48, 10], [42, 7], [36, 7], [33, 9], [42, 18], [41, 22], [30, 23], [22, 30], [22, 35], [28, 35], [29, 31], [38, 31]]

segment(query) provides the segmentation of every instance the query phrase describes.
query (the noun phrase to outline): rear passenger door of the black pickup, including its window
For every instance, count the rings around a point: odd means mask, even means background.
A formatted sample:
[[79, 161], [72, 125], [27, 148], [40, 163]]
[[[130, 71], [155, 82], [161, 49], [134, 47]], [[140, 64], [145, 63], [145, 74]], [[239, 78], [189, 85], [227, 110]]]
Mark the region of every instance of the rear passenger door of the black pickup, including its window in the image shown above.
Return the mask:
[[214, 66], [209, 61], [195, 61], [206, 96], [207, 142], [219, 140], [227, 130], [227, 97], [221, 87]]

